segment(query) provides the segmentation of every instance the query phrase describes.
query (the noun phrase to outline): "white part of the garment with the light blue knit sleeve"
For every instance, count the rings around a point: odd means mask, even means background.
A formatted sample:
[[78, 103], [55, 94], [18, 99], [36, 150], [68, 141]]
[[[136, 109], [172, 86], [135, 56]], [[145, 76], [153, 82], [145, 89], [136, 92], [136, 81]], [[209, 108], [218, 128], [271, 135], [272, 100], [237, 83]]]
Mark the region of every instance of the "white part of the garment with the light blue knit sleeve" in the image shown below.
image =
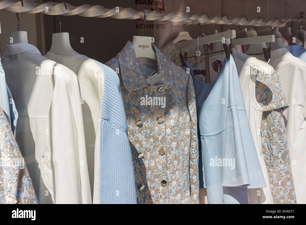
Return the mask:
[[58, 55], [47, 52], [45, 57], [67, 66], [75, 72], [78, 77], [81, 98], [83, 99], [81, 105], [85, 129], [91, 196], [95, 196], [93, 197], [93, 203], [99, 203], [99, 137], [101, 120], [100, 113], [104, 88], [103, 68], [93, 59], [81, 54]]

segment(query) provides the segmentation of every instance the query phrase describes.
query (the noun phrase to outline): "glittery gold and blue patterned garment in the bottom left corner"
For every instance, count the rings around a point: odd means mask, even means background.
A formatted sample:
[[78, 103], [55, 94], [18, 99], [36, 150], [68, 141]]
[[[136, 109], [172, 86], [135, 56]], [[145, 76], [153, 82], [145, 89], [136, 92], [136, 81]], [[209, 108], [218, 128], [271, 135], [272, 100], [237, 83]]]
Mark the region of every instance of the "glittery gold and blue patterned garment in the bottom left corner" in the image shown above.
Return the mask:
[[0, 108], [0, 204], [37, 204], [32, 180]]

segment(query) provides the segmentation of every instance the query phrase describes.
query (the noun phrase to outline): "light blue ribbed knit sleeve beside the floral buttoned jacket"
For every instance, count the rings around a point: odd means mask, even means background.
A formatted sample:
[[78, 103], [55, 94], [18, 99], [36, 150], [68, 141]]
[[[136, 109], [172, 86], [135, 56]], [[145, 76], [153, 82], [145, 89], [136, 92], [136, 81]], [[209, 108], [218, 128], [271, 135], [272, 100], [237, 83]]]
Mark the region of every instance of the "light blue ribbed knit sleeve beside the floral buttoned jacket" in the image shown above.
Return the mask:
[[136, 204], [132, 153], [119, 77], [113, 69], [98, 63], [104, 70], [100, 123], [100, 204]]

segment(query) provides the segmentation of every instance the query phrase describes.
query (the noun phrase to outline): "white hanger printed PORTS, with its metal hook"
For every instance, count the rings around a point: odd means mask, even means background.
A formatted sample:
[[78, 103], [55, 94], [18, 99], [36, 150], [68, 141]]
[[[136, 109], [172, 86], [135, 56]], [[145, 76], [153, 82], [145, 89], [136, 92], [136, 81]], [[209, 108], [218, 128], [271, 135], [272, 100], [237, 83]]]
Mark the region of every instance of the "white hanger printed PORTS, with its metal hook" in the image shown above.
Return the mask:
[[[144, 12], [144, 10], [143, 10]], [[144, 23], [146, 22], [146, 13], [144, 12]], [[144, 35], [144, 23], [142, 25], [141, 35], [133, 36], [132, 45], [136, 54], [136, 58], [144, 57], [156, 61], [156, 53], [152, 48], [152, 38]]]

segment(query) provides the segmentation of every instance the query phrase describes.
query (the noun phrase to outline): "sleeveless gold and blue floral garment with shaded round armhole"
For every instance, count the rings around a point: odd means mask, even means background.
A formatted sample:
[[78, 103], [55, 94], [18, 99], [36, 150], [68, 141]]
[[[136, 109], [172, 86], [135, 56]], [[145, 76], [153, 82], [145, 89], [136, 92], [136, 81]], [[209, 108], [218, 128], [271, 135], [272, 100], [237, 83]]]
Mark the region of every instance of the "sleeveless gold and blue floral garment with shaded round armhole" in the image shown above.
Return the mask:
[[289, 106], [279, 77], [256, 77], [256, 100], [263, 108], [261, 142], [274, 204], [296, 204], [282, 108]]

